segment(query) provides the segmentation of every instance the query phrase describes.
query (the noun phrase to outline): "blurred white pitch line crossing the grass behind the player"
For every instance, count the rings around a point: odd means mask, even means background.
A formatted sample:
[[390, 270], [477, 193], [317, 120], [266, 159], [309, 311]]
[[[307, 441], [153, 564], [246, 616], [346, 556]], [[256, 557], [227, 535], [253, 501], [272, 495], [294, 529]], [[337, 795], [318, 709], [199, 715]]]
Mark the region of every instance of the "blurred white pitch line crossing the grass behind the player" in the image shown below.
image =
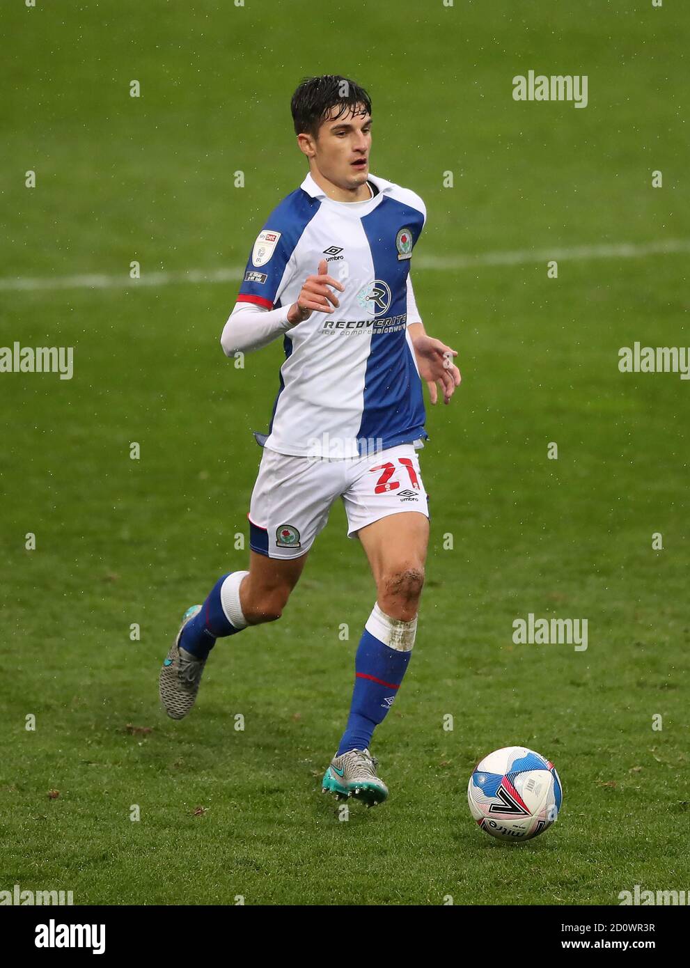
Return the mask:
[[[690, 239], [667, 242], [603, 243], [572, 248], [524, 249], [518, 252], [485, 252], [476, 256], [418, 256], [414, 268], [422, 270], [468, 269], [479, 265], [519, 265], [523, 262], [548, 262], [551, 259], [643, 258], [690, 252]], [[190, 269], [188, 272], [144, 272], [140, 279], [129, 275], [46, 276], [44, 278], [0, 278], [0, 291], [33, 292], [40, 289], [110, 289], [138, 286], [175, 286], [181, 283], [238, 283], [244, 278], [244, 266], [225, 269]]]

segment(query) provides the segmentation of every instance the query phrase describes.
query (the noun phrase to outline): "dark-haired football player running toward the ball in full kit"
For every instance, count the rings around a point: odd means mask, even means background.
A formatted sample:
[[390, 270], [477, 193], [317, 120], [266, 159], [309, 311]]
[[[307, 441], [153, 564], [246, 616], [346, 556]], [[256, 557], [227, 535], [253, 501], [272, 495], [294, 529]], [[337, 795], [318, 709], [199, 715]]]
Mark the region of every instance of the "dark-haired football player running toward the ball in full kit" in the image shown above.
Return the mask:
[[460, 374], [456, 351], [426, 335], [409, 279], [424, 203], [369, 173], [369, 95], [345, 77], [311, 77], [291, 108], [309, 174], [259, 232], [221, 338], [228, 356], [284, 338], [269, 432], [255, 435], [264, 450], [248, 515], [250, 567], [224, 575], [185, 614], [160, 693], [167, 714], [181, 719], [216, 639], [281, 618], [341, 497], [376, 602], [322, 787], [373, 805], [388, 790], [369, 746], [414, 644], [429, 536], [416, 454], [427, 437], [420, 376], [432, 403], [438, 383], [447, 404]]

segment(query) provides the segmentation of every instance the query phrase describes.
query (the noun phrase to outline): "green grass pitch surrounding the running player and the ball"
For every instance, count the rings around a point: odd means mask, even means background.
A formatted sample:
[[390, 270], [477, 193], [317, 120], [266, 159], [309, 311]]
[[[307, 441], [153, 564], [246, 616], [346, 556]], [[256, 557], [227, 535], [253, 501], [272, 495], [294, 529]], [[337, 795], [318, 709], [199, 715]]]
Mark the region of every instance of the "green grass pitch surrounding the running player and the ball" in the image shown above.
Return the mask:
[[[0, 375], [0, 890], [528, 905], [688, 887], [690, 388], [620, 374], [617, 353], [690, 342], [687, 251], [644, 249], [690, 240], [689, 24], [671, 0], [4, 5], [0, 345], [72, 346], [75, 376]], [[530, 69], [588, 76], [588, 105], [515, 102]], [[427, 202], [417, 301], [464, 375], [421, 454], [427, 584], [374, 744], [391, 797], [347, 821], [320, 778], [375, 589], [340, 505], [283, 619], [219, 643], [184, 722], [159, 708], [180, 616], [246, 566], [251, 432], [282, 348], [225, 359], [237, 282], [146, 285], [244, 266], [304, 176], [291, 92], [327, 72], [373, 96], [374, 173]], [[563, 255], [557, 279], [541, 257], [442, 268], [619, 243], [641, 251]], [[88, 274], [123, 282], [58, 285]], [[587, 650], [514, 645], [529, 612], [586, 618]], [[513, 743], [564, 786], [558, 823], [523, 845], [480, 832], [465, 800], [475, 763]]]

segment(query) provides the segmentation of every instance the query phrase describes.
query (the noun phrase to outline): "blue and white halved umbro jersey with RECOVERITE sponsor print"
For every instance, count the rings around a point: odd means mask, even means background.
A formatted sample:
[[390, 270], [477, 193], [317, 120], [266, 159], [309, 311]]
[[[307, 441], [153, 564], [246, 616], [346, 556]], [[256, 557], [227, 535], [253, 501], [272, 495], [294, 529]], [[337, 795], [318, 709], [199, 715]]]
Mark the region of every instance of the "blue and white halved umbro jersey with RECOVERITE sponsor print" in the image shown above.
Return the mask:
[[420, 321], [408, 277], [426, 209], [414, 192], [369, 181], [372, 198], [339, 202], [308, 174], [271, 213], [247, 264], [238, 302], [267, 310], [294, 303], [323, 258], [345, 286], [333, 313], [313, 313], [285, 333], [269, 433], [256, 435], [282, 454], [349, 458], [421, 447], [427, 437], [406, 332]]

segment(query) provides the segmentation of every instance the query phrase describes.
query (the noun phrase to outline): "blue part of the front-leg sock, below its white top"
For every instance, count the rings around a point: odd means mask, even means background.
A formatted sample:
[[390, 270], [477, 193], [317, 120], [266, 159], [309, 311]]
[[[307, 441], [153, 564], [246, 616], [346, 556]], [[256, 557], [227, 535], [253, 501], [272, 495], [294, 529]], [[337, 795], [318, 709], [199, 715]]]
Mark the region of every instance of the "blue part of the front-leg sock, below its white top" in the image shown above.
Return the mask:
[[410, 651], [391, 649], [366, 628], [354, 660], [352, 705], [336, 756], [348, 749], [367, 749], [375, 726], [391, 708], [405, 676]]

